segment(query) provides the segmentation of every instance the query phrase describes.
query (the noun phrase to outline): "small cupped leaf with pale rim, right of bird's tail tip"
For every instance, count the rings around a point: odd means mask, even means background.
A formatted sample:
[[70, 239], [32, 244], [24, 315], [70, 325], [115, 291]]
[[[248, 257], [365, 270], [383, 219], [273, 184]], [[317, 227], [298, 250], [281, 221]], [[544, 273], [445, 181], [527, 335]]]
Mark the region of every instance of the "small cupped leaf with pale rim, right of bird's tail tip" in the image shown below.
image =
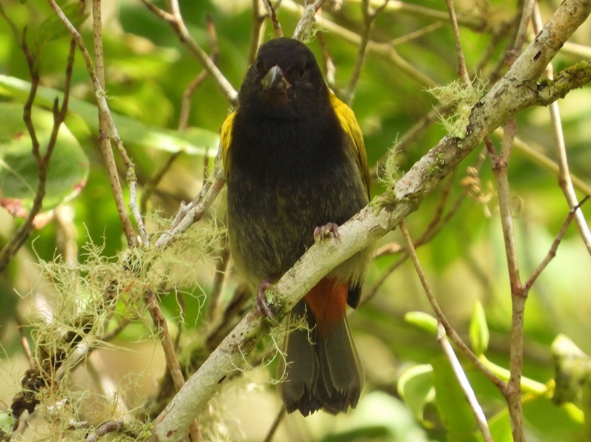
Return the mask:
[[433, 367], [430, 364], [414, 365], [398, 379], [398, 394], [406, 402], [413, 416], [423, 422], [425, 405], [433, 401]]

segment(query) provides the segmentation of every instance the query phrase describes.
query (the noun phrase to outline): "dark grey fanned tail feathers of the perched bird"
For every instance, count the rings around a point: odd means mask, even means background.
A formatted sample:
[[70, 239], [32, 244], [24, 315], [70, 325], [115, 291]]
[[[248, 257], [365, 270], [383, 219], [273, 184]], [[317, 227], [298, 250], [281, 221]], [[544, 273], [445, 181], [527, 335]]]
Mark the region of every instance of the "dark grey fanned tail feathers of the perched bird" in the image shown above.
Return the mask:
[[278, 391], [287, 411], [300, 410], [306, 416], [320, 409], [337, 414], [355, 408], [365, 375], [347, 316], [322, 329], [307, 303], [300, 301], [291, 311], [292, 318], [292, 324], [300, 318], [306, 322], [288, 333], [284, 342]]

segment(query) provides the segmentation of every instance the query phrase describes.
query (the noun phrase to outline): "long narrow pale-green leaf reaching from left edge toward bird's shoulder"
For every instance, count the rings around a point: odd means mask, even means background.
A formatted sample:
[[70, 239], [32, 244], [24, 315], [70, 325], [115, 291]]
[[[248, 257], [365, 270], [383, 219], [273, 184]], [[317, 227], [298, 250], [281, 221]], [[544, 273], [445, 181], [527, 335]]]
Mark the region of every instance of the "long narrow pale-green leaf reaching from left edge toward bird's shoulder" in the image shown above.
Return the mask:
[[[28, 81], [0, 75], [0, 95], [4, 94], [24, 103], [30, 87], [31, 84]], [[35, 96], [35, 105], [50, 109], [56, 97], [61, 100], [63, 93], [48, 87], [39, 87], [37, 96]], [[70, 125], [70, 114], [74, 114], [74, 116], [81, 118], [86, 123], [93, 135], [98, 136], [99, 120], [95, 104], [70, 97], [68, 113], [69, 116], [66, 119], [68, 125]], [[216, 155], [219, 135], [210, 130], [193, 127], [180, 133], [174, 130], [148, 127], [133, 118], [113, 112], [111, 114], [119, 132], [119, 137], [126, 145], [145, 149], [155, 148], [166, 152], [181, 151], [190, 155], [205, 155], [206, 152], [210, 156]]]

